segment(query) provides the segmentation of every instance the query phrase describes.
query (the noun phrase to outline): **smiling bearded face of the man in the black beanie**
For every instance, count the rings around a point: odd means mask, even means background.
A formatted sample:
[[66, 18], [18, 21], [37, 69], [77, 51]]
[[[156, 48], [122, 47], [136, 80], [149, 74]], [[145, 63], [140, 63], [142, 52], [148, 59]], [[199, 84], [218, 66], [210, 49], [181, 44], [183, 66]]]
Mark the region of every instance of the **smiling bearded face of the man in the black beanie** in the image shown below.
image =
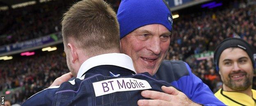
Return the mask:
[[240, 48], [225, 49], [219, 57], [219, 74], [224, 86], [229, 89], [247, 90], [254, 75], [249, 55]]

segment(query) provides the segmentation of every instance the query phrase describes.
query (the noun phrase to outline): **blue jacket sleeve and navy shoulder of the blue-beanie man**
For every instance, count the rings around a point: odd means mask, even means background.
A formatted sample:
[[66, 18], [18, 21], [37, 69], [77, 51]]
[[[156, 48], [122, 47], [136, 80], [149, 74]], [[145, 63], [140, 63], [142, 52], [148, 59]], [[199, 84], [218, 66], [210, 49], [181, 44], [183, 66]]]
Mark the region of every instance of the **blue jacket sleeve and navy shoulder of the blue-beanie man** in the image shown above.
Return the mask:
[[171, 83], [193, 102], [206, 106], [225, 106], [214, 96], [210, 88], [192, 73], [187, 63], [164, 61], [158, 71], [158, 79]]

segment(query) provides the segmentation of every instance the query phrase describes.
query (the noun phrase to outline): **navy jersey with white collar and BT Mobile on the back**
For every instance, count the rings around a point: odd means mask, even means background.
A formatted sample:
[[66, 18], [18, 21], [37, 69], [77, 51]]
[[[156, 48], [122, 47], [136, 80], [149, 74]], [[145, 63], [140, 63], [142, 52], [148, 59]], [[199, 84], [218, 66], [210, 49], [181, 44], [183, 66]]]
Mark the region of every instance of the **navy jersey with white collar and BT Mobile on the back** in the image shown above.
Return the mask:
[[82, 63], [76, 79], [49, 87], [24, 102], [23, 106], [136, 106], [142, 90], [161, 91], [169, 83], [149, 73], [135, 74], [132, 59], [122, 53], [90, 57]]

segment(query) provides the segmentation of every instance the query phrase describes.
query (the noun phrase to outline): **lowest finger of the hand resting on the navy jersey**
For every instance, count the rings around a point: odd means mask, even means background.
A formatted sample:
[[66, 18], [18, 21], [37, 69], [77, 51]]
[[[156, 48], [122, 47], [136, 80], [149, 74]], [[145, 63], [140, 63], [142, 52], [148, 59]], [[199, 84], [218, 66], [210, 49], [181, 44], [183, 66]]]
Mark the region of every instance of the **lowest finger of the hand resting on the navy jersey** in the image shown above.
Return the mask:
[[171, 106], [171, 102], [167, 102], [163, 100], [154, 100], [154, 99], [150, 99], [150, 100], [142, 99], [142, 100], [138, 100], [137, 105], [138, 106]]

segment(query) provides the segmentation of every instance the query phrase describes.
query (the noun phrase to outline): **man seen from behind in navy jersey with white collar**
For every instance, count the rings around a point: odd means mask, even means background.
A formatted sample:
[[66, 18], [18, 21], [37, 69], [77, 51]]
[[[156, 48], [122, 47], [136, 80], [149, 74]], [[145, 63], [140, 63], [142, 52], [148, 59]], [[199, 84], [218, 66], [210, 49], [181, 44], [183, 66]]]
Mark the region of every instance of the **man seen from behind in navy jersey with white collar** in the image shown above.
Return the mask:
[[[163, 92], [171, 84], [148, 72], [135, 73], [132, 59], [120, 53], [119, 25], [103, 0], [82, 0], [64, 14], [62, 36], [69, 70], [76, 77], [27, 99], [24, 106], [134, 106], [142, 90]], [[173, 94], [184, 93], [174, 90]], [[187, 105], [198, 105], [188, 102]]]

